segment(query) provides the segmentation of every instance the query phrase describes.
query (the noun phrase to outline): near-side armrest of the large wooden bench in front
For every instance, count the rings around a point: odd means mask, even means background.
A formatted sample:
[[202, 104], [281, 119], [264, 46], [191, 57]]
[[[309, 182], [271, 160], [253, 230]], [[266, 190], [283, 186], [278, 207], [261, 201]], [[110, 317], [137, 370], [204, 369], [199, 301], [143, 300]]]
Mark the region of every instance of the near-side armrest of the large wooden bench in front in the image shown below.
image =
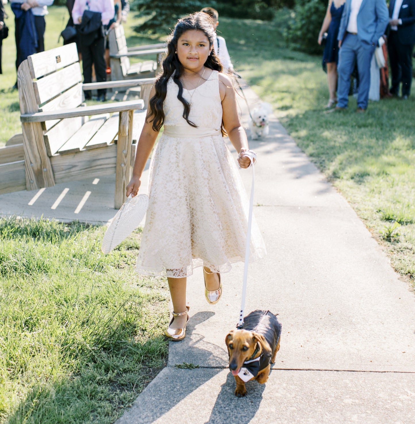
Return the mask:
[[43, 122], [51, 119], [73, 118], [77, 116], [98, 115], [109, 112], [123, 112], [144, 108], [144, 100], [129, 100], [126, 102], [108, 103], [103, 105], [77, 107], [75, 109], [62, 109], [56, 112], [37, 112], [20, 115], [22, 122]]

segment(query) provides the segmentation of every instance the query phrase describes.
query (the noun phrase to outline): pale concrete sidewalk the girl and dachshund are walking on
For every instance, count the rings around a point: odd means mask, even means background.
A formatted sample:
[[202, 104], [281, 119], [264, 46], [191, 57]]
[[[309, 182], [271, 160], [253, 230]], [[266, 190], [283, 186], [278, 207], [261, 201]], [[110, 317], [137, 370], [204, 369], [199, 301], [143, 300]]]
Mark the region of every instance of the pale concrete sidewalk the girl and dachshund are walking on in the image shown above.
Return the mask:
[[[283, 324], [269, 380], [249, 382], [239, 399], [226, 369], [243, 264], [223, 274], [223, 298], [213, 306], [198, 268], [188, 281], [187, 338], [170, 343], [167, 367], [117, 423], [413, 423], [414, 295], [278, 120], [250, 147], [268, 255], [249, 267], [246, 313], [269, 309]], [[249, 190], [251, 171], [241, 175]], [[183, 362], [200, 368], [175, 367]]]

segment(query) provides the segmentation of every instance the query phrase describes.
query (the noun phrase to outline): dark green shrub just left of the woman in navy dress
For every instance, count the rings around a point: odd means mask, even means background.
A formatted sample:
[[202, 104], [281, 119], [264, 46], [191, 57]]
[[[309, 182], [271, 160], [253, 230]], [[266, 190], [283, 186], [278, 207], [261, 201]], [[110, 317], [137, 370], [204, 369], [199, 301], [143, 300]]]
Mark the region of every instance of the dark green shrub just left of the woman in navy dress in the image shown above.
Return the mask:
[[326, 14], [326, 0], [309, 0], [297, 3], [291, 14], [284, 38], [296, 49], [310, 54], [321, 54], [323, 47], [318, 45], [318, 33]]

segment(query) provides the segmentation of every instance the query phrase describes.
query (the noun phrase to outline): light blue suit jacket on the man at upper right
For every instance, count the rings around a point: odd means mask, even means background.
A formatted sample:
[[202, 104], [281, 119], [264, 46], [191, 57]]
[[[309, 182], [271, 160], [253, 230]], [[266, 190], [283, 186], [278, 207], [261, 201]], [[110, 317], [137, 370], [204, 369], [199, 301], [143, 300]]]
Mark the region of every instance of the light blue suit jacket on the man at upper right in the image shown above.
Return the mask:
[[[343, 41], [346, 36], [350, 10], [351, 0], [346, 0], [337, 36], [339, 41]], [[357, 36], [368, 44], [376, 44], [384, 34], [388, 22], [389, 13], [385, 0], [363, 0], [357, 14]]]

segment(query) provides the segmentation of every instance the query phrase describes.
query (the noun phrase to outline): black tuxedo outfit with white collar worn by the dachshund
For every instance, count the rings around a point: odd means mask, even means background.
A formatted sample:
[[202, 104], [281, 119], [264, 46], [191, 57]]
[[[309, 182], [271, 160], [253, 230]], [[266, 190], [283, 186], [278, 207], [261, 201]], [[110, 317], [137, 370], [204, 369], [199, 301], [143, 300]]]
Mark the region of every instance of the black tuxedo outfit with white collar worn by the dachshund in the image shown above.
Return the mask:
[[[244, 330], [253, 331], [255, 333], [261, 334], [265, 337], [270, 348], [272, 349], [272, 354], [266, 356], [262, 351], [262, 354], [255, 359], [249, 359], [243, 363], [238, 377], [243, 381], [247, 382], [252, 378], [255, 378], [259, 371], [263, 370], [268, 366], [271, 361], [271, 357], [274, 354], [276, 346], [278, 344], [279, 338], [281, 336], [281, 323], [278, 321], [277, 317], [270, 311], [256, 310], [251, 312], [248, 316], [244, 318], [244, 324], [242, 327]], [[252, 357], [259, 352], [259, 343], [256, 343], [255, 351], [252, 354]]]

